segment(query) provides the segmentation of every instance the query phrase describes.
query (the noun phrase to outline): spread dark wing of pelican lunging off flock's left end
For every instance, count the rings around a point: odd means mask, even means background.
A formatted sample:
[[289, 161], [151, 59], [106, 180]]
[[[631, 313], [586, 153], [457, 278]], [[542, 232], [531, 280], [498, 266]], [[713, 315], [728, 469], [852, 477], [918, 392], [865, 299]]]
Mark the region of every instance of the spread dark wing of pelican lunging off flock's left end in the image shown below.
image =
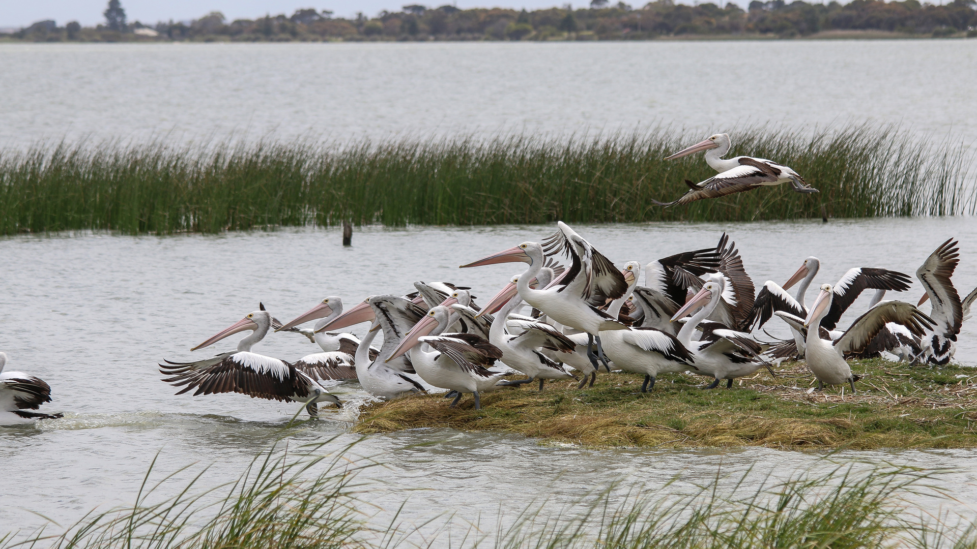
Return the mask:
[[292, 401], [308, 397], [313, 383], [284, 360], [255, 353], [224, 353], [196, 362], [159, 364], [159, 371], [171, 377], [163, 379], [174, 387], [183, 387], [177, 395], [195, 390], [193, 396], [239, 393], [255, 399]]

